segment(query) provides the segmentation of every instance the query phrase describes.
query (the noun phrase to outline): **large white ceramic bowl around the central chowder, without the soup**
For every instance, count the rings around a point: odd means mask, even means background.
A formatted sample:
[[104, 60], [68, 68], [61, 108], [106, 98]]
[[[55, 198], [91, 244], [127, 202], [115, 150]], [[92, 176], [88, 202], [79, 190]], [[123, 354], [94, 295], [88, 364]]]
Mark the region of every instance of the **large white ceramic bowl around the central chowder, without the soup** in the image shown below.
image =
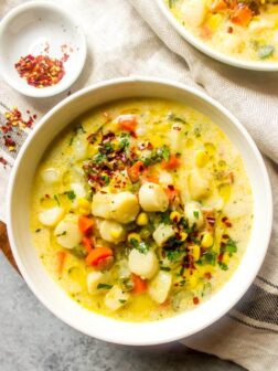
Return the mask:
[[[30, 234], [30, 191], [35, 169], [47, 146], [74, 118], [89, 108], [128, 97], [159, 97], [183, 102], [213, 119], [242, 153], [254, 194], [254, 227], [246, 253], [232, 278], [210, 300], [175, 317], [152, 322], [114, 320], [82, 308], [50, 277]], [[8, 193], [8, 233], [13, 255], [35, 296], [58, 318], [98, 339], [125, 344], [154, 344], [184, 338], [228, 311], [254, 280], [267, 252], [272, 221], [268, 174], [245, 128], [218, 103], [192, 87], [158, 78], [120, 78], [70, 96], [36, 125], [12, 170]]]

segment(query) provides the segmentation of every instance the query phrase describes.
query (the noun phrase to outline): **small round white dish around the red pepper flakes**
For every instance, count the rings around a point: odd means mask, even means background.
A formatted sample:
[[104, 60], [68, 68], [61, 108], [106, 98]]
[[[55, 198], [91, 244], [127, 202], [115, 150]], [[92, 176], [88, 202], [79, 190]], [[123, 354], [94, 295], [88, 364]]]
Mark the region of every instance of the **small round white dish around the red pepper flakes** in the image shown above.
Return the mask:
[[[28, 54], [61, 59], [68, 45], [65, 75], [53, 86], [38, 88], [19, 76], [14, 64]], [[31, 97], [49, 97], [68, 88], [82, 72], [86, 60], [85, 35], [74, 18], [50, 1], [31, 1], [11, 10], [0, 23], [0, 72], [18, 92]]]

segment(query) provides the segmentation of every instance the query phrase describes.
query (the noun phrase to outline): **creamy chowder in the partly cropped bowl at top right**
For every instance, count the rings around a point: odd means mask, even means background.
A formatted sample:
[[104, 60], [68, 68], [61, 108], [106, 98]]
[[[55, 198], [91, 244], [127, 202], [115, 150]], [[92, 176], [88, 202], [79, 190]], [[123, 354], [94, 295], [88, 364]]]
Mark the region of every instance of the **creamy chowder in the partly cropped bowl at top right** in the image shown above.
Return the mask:
[[278, 2], [165, 1], [184, 28], [218, 52], [245, 61], [278, 61]]

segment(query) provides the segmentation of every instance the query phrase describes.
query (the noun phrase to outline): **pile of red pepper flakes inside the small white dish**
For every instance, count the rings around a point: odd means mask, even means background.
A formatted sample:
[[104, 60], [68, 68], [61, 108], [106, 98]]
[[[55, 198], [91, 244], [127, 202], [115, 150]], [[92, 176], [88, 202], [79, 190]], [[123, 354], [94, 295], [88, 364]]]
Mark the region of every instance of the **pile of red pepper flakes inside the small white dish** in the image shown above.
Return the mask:
[[56, 85], [65, 75], [63, 61], [47, 55], [22, 56], [14, 67], [20, 77], [38, 88]]

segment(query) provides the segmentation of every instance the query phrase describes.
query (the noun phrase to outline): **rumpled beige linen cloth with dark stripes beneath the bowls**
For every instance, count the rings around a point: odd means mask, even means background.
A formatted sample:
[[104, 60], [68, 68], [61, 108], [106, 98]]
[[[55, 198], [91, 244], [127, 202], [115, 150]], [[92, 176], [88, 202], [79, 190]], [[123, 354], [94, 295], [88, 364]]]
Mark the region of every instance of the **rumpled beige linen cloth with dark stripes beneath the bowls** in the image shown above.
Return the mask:
[[[0, 3], [0, 17], [23, 1]], [[60, 0], [60, 4], [79, 19], [88, 42], [86, 67], [71, 92], [94, 82], [117, 76], [152, 75], [177, 80], [207, 92], [246, 126], [260, 150], [272, 182], [275, 210], [278, 210], [278, 77], [239, 71], [210, 60], [191, 47], [149, 0]], [[140, 17], [141, 15], [141, 17]], [[149, 25], [148, 25], [149, 24]], [[12, 91], [0, 80], [0, 103], [30, 109], [40, 118], [68, 92], [54, 98], [31, 99]], [[0, 163], [0, 220], [13, 157]], [[269, 159], [271, 158], [271, 160]], [[216, 324], [183, 342], [194, 349], [233, 360], [249, 370], [278, 369], [278, 214], [266, 261], [239, 304]]]

